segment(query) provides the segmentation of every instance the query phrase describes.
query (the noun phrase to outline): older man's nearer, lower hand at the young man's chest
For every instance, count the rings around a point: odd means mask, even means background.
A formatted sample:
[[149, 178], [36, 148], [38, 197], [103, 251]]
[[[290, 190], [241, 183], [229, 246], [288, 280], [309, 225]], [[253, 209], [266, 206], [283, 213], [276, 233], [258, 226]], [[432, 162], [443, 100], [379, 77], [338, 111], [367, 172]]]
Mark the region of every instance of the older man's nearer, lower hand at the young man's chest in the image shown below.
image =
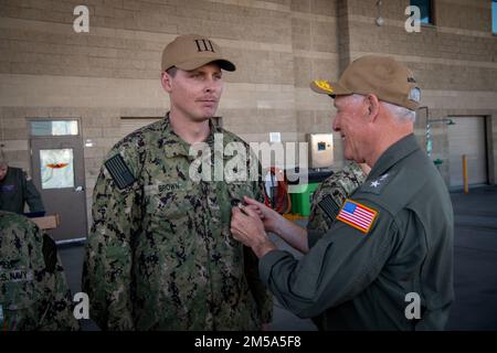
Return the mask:
[[233, 237], [251, 247], [258, 258], [276, 246], [267, 237], [260, 215], [251, 207], [233, 207], [231, 210], [231, 234]]

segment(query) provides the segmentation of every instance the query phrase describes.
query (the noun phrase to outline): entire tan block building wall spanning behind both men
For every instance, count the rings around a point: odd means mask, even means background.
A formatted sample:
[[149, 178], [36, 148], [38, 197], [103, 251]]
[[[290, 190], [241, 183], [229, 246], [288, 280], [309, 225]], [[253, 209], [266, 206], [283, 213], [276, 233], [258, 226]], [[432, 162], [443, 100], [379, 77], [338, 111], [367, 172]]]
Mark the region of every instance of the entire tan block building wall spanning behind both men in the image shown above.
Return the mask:
[[[408, 64], [434, 117], [485, 113], [496, 139], [496, 38], [486, 0], [435, 0], [435, 26], [406, 33], [409, 0], [0, 0], [0, 139], [13, 164], [29, 170], [27, 118], [75, 117], [82, 124], [86, 191], [121, 117], [161, 117], [163, 45], [180, 33], [204, 33], [237, 64], [226, 73], [219, 115], [248, 142], [305, 141], [331, 132], [332, 100], [313, 94], [314, 78], [336, 79], [353, 58], [380, 53]], [[75, 33], [73, 10], [89, 10], [89, 33]], [[416, 133], [422, 141], [424, 124]], [[434, 153], [446, 156], [444, 127]], [[335, 140], [335, 168], [342, 148]], [[489, 156], [496, 175], [494, 142]], [[495, 183], [495, 179], [491, 180]], [[89, 214], [89, 212], [88, 212]]]

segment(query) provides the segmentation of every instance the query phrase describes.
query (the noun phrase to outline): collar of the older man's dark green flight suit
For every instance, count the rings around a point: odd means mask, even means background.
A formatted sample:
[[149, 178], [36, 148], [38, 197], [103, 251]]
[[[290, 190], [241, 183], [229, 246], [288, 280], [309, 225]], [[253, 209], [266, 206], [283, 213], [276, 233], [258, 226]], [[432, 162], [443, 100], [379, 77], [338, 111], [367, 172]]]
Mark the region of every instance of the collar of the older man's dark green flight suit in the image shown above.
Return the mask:
[[371, 169], [368, 179], [377, 179], [378, 176], [384, 174], [401, 159], [408, 157], [419, 149], [420, 145], [417, 143], [414, 133], [408, 135], [406, 137], [400, 139], [395, 143], [390, 146], [387, 151], [383, 152], [383, 154], [381, 154], [377, 163]]

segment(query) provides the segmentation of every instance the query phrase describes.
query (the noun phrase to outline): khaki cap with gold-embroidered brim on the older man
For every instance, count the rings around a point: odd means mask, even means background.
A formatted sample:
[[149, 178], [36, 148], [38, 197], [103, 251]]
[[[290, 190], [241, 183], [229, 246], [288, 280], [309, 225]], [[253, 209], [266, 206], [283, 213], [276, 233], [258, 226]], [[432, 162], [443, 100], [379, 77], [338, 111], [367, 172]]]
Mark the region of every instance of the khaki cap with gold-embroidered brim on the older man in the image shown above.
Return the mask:
[[341, 95], [376, 95], [388, 101], [415, 110], [421, 100], [421, 90], [412, 72], [387, 56], [367, 55], [349, 64], [337, 83], [315, 79], [310, 88], [335, 98]]

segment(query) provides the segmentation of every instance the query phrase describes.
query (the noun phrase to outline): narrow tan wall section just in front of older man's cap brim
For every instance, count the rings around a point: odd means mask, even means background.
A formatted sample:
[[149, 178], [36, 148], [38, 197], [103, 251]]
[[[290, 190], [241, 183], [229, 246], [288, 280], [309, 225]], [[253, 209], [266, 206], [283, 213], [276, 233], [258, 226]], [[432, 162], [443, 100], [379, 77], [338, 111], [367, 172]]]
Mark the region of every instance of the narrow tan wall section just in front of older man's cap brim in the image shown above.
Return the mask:
[[[339, 76], [338, 2], [307, 0], [292, 2], [292, 31], [295, 75], [297, 140], [306, 133], [332, 132], [335, 111], [329, 97], [309, 89], [313, 79], [337, 79]], [[341, 168], [341, 139], [336, 135], [334, 168]]]

